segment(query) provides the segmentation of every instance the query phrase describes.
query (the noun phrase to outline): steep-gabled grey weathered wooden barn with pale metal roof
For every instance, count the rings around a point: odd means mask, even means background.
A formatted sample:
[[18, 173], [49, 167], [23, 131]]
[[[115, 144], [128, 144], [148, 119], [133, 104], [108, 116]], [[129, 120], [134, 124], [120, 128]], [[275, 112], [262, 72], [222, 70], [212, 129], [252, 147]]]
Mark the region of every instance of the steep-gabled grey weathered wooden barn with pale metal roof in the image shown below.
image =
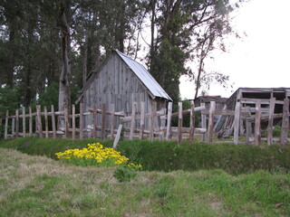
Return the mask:
[[[111, 104], [114, 104], [115, 111], [123, 111], [125, 116], [130, 116], [134, 101], [137, 102], [137, 114], [140, 112], [140, 102], [145, 102], [146, 114], [151, 111], [153, 101], [160, 110], [166, 109], [167, 101], [172, 99], [144, 66], [113, 50], [87, 80], [76, 103], [79, 101], [82, 101], [84, 111], [92, 109], [94, 104], [97, 109], [107, 104], [107, 109], [111, 110]], [[84, 126], [91, 124], [92, 117], [84, 118]]]

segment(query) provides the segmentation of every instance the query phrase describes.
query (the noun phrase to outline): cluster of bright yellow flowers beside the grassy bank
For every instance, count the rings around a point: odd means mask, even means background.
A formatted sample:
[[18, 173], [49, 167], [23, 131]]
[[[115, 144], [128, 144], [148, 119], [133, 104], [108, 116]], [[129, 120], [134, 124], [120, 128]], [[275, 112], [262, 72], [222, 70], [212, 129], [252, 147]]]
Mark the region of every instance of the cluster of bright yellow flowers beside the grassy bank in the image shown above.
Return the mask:
[[82, 149], [68, 149], [64, 152], [55, 153], [55, 155], [57, 158], [82, 158], [84, 160], [92, 160], [99, 164], [105, 163], [105, 165], [111, 165], [111, 162], [113, 162], [114, 165], [121, 165], [129, 160], [126, 156], [121, 156], [121, 152], [111, 147], [103, 147], [100, 143], [88, 144], [88, 147]]

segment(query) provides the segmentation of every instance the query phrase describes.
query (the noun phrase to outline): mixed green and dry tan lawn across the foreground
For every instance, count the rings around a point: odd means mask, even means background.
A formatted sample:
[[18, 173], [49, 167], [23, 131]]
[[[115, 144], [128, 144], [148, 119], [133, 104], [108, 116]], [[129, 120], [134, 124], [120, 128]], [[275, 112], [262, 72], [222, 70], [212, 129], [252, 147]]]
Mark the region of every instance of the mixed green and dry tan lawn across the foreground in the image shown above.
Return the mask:
[[114, 170], [0, 148], [0, 216], [290, 216], [289, 174]]

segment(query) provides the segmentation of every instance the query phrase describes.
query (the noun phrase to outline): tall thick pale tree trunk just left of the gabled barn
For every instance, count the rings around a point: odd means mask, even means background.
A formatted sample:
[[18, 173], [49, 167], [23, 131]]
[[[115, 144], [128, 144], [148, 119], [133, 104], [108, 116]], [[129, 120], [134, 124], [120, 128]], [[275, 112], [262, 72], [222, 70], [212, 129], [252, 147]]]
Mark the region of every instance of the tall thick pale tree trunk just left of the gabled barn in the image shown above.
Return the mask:
[[[62, 26], [62, 71], [60, 76], [60, 90], [58, 98], [58, 109], [63, 111], [64, 109], [70, 110], [71, 104], [71, 92], [70, 92], [70, 80], [71, 80], [71, 62], [69, 59], [69, 52], [71, 47], [70, 39], [70, 25], [67, 23], [65, 15], [64, 0], [61, 3], [60, 20]], [[64, 119], [58, 120], [58, 127], [64, 128]]]

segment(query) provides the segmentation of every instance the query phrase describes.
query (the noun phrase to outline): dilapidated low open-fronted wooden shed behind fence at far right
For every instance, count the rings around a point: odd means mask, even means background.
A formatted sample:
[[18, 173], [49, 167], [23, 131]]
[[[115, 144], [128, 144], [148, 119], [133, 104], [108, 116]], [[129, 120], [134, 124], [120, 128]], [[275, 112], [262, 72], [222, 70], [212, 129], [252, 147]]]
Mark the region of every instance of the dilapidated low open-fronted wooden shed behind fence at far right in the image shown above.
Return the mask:
[[[239, 88], [227, 99], [227, 109], [235, 110], [239, 117], [239, 133], [246, 132], [246, 119], [255, 117], [256, 103], [261, 104], [262, 114], [268, 116], [270, 105], [273, 103], [273, 113], [281, 114], [284, 99], [290, 99], [290, 88]], [[272, 102], [273, 101], [273, 102]], [[237, 107], [238, 105], [238, 107]], [[224, 116], [220, 118], [216, 131], [221, 137], [227, 137], [234, 131], [234, 118]], [[274, 118], [274, 125], [280, 125], [282, 118]]]

